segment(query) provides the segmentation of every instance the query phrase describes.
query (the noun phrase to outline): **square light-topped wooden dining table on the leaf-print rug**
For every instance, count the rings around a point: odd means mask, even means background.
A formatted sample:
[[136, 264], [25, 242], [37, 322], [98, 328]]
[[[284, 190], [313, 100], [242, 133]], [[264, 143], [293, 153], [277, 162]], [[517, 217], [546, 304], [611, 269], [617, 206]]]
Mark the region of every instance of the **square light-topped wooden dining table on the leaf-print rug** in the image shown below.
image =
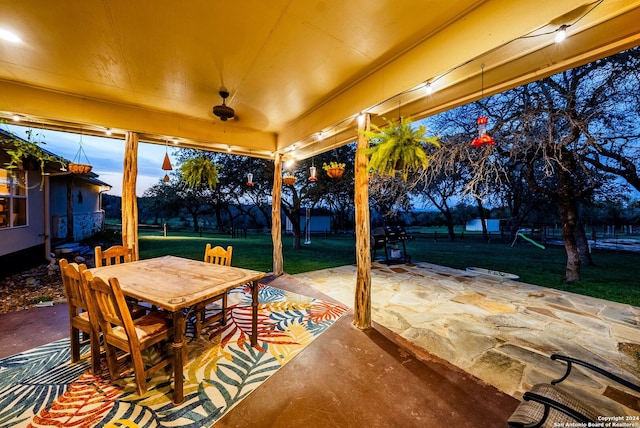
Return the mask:
[[173, 402], [184, 401], [183, 367], [186, 354], [186, 316], [196, 304], [232, 288], [251, 286], [251, 346], [258, 339], [258, 280], [264, 272], [222, 266], [175, 256], [163, 256], [90, 269], [105, 281], [117, 278], [126, 296], [148, 302], [173, 314]]

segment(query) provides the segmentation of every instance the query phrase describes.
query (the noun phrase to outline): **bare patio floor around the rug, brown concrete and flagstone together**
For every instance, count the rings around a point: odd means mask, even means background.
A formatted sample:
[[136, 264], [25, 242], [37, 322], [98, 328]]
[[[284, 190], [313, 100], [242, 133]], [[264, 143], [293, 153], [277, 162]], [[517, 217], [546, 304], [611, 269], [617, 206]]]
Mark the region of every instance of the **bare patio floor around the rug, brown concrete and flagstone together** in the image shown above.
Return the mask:
[[[268, 282], [352, 307], [355, 279], [356, 267], [342, 266]], [[637, 307], [428, 263], [374, 263], [372, 316], [363, 332], [347, 313], [216, 426], [503, 427], [524, 391], [564, 372], [552, 353], [640, 383]], [[64, 305], [1, 314], [0, 358], [68, 334]], [[603, 415], [640, 415], [638, 397], [602, 378], [574, 372], [563, 385]]]

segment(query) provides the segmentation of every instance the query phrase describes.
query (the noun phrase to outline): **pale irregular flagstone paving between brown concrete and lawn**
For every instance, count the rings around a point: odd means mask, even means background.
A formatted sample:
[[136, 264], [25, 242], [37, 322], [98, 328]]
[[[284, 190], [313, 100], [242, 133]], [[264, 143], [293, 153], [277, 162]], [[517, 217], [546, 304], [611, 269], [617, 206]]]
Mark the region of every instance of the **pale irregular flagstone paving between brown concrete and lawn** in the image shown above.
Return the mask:
[[[564, 373], [552, 353], [640, 384], [638, 307], [429, 263], [373, 263], [371, 274], [373, 321], [518, 399]], [[294, 276], [353, 307], [355, 266]], [[640, 415], [640, 399], [584, 373], [562, 385], [608, 415]]]

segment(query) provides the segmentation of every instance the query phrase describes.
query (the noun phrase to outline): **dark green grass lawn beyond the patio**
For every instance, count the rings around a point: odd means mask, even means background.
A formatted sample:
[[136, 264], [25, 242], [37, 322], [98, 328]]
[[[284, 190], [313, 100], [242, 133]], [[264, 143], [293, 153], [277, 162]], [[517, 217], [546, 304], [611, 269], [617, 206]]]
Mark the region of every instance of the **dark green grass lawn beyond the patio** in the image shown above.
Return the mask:
[[[175, 255], [200, 260], [207, 242], [212, 245], [233, 246], [234, 266], [269, 272], [272, 270], [271, 235], [248, 235], [231, 239], [228, 235], [205, 235], [173, 232], [162, 236], [158, 231], [141, 231], [140, 257]], [[283, 237], [284, 270], [290, 274], [355, 264], [355, 240], [351, 235], [312, 237], [310, 245], [293, 248], [290, 235]], [[593, 253], [595, 266], [582, 268], [582, 281], [566, 284], [563, 281], [566, 263], [564, 248], [547, 246], [542, 250], [519, 242], [486, 243], [474, 235], [464, 240], [434, 241], [429, 234], [416, 234], [407, 242], [407, 253], [413, 261], [425, 261], [458, 269], [475, 266], [509, 272], [521, 281], [566, 290], [602, 299], [640, 306], [640, 254], [597, 250]], [[379, 252], [380, 254], [380, 252]]]

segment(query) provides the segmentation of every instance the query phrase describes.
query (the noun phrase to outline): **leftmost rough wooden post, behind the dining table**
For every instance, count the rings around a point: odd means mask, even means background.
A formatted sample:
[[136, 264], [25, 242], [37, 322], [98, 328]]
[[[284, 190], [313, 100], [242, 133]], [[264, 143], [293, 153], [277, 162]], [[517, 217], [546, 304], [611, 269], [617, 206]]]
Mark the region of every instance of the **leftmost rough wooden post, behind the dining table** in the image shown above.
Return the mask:
[[124, 147], [124, 171], [122, 173], [122, 245], [135, 249], [135, 260], [139, 258], [138, 245], [138, 200], [136, 179], [138, 178], [138, 134], [127, 132]]

